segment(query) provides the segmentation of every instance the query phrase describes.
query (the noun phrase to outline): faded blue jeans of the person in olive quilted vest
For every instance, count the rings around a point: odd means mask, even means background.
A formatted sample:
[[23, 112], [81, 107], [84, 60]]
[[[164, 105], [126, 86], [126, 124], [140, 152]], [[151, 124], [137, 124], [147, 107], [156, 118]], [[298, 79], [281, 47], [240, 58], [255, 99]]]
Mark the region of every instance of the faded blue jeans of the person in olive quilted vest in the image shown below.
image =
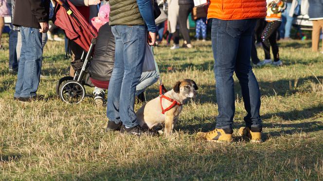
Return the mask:
[[108, 88], [107, 117], [126, 127], [137, 126], [134, 112], [136, 86], [143, 70], [147, 28], [142, 25], [112, 26], [115, 62]]

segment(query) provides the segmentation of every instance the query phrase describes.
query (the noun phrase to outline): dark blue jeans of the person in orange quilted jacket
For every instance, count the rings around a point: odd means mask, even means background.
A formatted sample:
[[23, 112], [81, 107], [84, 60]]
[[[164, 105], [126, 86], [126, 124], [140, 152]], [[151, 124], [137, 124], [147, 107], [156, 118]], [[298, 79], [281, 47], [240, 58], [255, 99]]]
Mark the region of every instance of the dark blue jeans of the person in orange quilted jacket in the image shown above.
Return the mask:
[[212, 19], [212, 49], [215, 59], [216, 128], [232, 128], [234, 107], [233, 72], [239, 79], [247, 111], [247, 127], [262, 127], [259, 115], [260, 91], [250, 63], [251, 36], [256, 19]]

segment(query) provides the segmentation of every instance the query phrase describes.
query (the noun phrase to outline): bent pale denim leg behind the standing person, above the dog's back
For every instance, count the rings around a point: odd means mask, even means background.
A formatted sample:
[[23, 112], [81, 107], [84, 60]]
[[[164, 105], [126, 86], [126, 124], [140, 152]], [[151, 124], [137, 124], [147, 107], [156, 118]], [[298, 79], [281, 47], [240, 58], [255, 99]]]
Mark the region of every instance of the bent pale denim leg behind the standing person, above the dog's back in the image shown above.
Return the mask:
[[159, 78], [157, 71], [143, 72], [139, 79], [139, 84], [136, 86], [136, 95], [144, 92], [146, 88], [155, 84]]

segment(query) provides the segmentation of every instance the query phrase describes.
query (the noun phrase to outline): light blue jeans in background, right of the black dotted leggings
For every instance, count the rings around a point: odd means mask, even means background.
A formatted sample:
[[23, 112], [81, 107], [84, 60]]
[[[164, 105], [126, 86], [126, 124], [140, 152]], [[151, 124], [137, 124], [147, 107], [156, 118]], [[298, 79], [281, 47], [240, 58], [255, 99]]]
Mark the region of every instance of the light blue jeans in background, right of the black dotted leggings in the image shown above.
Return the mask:
[[293, 22], [293, 17], [288, 16], [291, 2], [286, 2], [287, 8], [282, 13], [282, 24], [280, 25], [280, 37], [288, 38], [290, 36], [290, 29]]

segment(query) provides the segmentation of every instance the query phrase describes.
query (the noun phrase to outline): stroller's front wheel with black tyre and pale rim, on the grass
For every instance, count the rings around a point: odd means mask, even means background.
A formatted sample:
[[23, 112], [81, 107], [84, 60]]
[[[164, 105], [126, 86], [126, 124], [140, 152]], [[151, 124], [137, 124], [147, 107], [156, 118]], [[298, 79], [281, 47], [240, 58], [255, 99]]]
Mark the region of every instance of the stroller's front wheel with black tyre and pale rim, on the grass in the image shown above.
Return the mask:
[[67, 104], [79, 104], [85, 97], [85, 88], [81, 83], [69, 80], [61, 86], [59, 97]]

